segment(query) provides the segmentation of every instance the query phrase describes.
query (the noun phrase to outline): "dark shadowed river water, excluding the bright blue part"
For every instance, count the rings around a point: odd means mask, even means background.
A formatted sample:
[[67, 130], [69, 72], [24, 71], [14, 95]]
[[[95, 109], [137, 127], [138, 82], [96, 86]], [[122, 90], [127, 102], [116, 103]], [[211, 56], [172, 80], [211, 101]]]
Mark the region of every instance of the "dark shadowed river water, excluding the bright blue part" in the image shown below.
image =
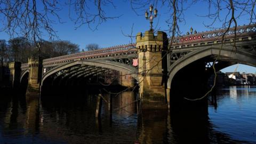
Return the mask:
[[0, 143], [250, 143], [216, 130], [209, 115], [192, 110], [191, 105], [178, 113], [144, 110], [138, 117], [136, 103], [127, 106], [134, 94], [126, 91], [113, 94], [112, 122], [104, 102], [97, 122], [98, 89], [77, 87], [62, 93], [41, 99], [20, 94], [1, 97]]

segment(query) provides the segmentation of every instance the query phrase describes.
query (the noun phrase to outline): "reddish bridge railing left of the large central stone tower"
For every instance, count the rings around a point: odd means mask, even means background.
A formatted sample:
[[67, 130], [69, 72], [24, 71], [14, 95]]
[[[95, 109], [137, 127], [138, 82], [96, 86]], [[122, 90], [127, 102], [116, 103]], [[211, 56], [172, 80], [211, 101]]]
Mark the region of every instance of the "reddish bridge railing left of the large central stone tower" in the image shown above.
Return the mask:
[[63, 55], [60, 57], [50, 58], [43, 60], [43, 65], [53, 65], [57, 63], [65, 63], [74, 60], [83, 60], [83, 59], [95, 59], [95, 58], [106, 58], [113, 57], [116, 55], [123, 54], [135, 54], [137, 49], [135, 49], [135, 44], [127, 45], [118, 45], [113, 47], [107, 47], [105, 49], [94, 50], [94, 51], [85, 51], [75, 54]]

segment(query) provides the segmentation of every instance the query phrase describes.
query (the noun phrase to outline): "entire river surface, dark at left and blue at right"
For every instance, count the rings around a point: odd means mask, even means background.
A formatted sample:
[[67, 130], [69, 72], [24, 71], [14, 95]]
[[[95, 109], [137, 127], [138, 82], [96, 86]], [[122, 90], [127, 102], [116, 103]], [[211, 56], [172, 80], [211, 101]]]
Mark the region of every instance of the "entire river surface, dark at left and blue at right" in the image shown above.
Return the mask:
[[0, 143], [256, 143], [256, 86], [219, 89], [217, 103], [209, 96], [209, 114], [192, 117], [163, 111], [138, 117], [133, 92], [112, 97], [112, 121], [104, 101], [96, 121], [93, 92], [1, 95]]

